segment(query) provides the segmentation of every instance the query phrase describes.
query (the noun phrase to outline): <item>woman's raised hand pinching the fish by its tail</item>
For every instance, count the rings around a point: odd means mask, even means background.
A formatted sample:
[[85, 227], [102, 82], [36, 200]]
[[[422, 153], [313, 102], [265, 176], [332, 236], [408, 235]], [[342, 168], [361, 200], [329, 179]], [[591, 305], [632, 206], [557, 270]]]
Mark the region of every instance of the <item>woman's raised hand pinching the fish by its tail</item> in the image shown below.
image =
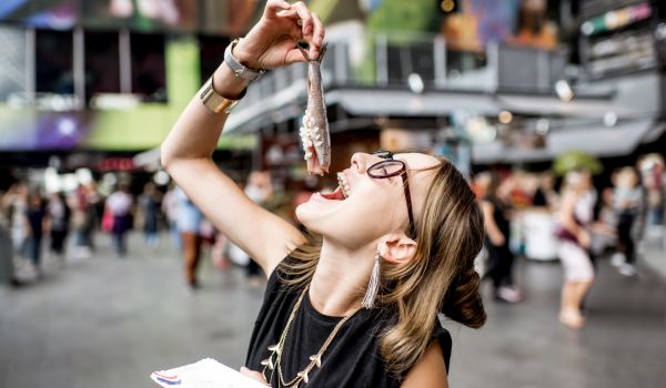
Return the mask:
[[305, 58], [297, 42], [306, 42], [310, 58], [319, 58], [324, 27], [302, 1], [269, 0], [261, 20], [234, 48], [233, 54], [251, 69], [275, 69]]

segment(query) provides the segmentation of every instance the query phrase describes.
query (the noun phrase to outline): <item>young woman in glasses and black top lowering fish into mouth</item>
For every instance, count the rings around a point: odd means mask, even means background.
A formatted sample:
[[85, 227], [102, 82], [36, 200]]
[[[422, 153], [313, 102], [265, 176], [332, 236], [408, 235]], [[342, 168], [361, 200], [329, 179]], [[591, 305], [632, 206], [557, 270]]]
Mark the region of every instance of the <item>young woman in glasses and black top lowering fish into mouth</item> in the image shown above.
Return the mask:
[[[304, 3], [270, 0], [231, 53], [248, 68], [274, 69], [305, 60], [296, 41], [317, 58], [323, 38]], [[248, 83], [226, 62], [212, 78], [231, 100]], [[451, 337], [437, 313], [485, 323], [473, 267], [483, 214], [460, 172], [425, 154], [356, 153], [335, 193], [299, 206], [320, 236], [309, 239], [215, 166], [226, 113], [202, 102], [196, 95], [182, 113], [162, 163], [269, 276], [243, 372], [273, 387], [446, 387]]]

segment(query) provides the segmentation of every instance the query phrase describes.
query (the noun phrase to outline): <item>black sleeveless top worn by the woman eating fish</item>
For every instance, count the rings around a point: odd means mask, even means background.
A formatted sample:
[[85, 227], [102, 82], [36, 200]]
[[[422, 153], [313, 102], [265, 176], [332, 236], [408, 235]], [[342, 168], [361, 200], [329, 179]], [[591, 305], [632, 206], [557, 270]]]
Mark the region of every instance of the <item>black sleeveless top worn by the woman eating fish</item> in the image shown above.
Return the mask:
[[[285, 286], [280, 280], [284, 274], [279, 274], [279, 270], [280, 266], [269, 278], [245, 360], [248, 368], [260, 372], [264, 368], [261, 360], [271, 354], [268, 350], [269, 346], [280, 341], [291, 312], [303, 290]], [[309, 374], [310, 382], [301, 384], [301, 387], [400, 387], [401, 380], [386, 370], [379, 346], [381, 333], [392, 325], [394, 317], [395, 315], [382, 313], [381, 309], [359, 310], [340, 328], [323, 354], [322, 368], [314, 368]], [[320, 350], [341, 319], [319, 313], [312, 306], [309, 293], [305, 293], [284, 344], [280, 368], [285, 381], [289, 382], [310, 364], [310, 356]], [[438, 321], [435, 324], [434, 339], [437, 339], [442, 347], [448, 369], [451, 336]], [[270, 369], [266, 369], [265, 377], [271, 378]], [[278, 372], [274, 372], [269, 381], [272, 387], [280, 386], [278, 379]]]

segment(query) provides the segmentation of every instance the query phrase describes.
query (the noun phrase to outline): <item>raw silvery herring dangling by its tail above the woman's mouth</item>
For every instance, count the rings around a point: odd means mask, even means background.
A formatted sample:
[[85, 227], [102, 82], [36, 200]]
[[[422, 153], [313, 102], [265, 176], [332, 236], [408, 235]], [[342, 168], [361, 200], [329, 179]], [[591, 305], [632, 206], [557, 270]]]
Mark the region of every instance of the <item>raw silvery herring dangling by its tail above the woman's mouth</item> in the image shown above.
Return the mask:
[[329, 120], [326, 119], [326, 103], [324, 102], [324, 90], [322, 85], [321, 64], [326, 53], [327, 44], [316, 59], [310, 58], [302, 44], [299, 49], [307, 60], [307, 108], [303, 116], [303, 126], [300, 135], [305, 151], [307, 172], [320, 174], [329, 172], [331, 165], [331, 134], [329, 133]]

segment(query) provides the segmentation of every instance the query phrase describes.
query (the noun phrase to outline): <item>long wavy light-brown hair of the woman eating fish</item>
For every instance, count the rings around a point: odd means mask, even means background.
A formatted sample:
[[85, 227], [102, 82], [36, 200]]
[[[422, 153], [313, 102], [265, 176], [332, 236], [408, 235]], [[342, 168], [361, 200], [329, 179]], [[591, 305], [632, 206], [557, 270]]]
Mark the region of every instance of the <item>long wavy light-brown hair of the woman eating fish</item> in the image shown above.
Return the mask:
[[[474, 258], [484, 237], [483, 213], [463, 175], [446, 160], [434, 167], [421, 217], [416, 217], [416, 251], [404, 264], [382, 263], [375, 304], [397, 317], [381, 335], [380, 351], [389, 371], [405, 376], [432, 341], [437, 313], [472, 328], [485, 324]], [[312, 280], [321, 237], [292, 252], [279, 273], [291, 286]], [[364, 289], [359, 290], [359, 297]]]

